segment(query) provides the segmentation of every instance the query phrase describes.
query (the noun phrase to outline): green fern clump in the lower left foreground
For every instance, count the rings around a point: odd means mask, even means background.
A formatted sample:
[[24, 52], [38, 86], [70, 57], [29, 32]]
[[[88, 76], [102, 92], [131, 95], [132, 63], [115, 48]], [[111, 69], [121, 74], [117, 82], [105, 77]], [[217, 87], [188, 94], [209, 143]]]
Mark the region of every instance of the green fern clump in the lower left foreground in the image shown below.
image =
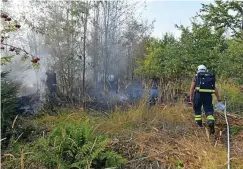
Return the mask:
[[96, 135], [87, 123], [64, 122], [48, 138], [38, 139], [34, 145], [33, 163], [47, 168], [102, 168], [118, 167], [124, 159], [109, 150], [109, 140]]

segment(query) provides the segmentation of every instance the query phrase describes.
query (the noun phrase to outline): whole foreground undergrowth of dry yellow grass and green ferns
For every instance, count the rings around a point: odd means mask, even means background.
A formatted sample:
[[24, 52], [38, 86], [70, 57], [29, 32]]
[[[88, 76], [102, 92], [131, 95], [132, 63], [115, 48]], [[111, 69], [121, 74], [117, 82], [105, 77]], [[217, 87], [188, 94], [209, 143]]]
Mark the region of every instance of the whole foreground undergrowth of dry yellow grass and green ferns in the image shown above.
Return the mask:
[[[178, 103], [147, 108], [145, 102], [128, 111], [107, 114], [63, 110], [32, 122], [42, 135], [4, 151], [4, 168], [202, 168], [227, 166], [224, 119], [216, 116], [216, 134], [198, 129], [191, 107]], [[221, 124], [222, 123], [222, 124]], [[223, 126], [223, 127], [222, 127]], [[231, 128], [233, 147], [242, 142], [241, 127]], [[40, 133], [40, 132], [37, 132]], [[243, 153], [232, 154], [232, 167], [242, 167]]]

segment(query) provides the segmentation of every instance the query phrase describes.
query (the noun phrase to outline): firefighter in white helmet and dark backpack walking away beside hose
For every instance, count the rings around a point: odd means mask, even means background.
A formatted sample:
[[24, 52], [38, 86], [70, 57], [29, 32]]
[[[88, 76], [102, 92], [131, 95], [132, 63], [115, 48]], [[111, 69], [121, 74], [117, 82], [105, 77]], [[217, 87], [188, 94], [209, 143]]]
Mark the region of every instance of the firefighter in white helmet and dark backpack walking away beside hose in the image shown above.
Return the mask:
[[199, 65], [197, 67], [197, 74], [191, 83], [190, 102], [193, 103], [195, 121], [199, 127], [203, 127], [201, 113], [201, 107], [203, 106], [210, 128], [210, 135], [215, 133], [212, 94], [215, 94], [217, 102], [221, 102], [219, 90], [215, 87], [215, 74], [207, 72], [204, 65]]

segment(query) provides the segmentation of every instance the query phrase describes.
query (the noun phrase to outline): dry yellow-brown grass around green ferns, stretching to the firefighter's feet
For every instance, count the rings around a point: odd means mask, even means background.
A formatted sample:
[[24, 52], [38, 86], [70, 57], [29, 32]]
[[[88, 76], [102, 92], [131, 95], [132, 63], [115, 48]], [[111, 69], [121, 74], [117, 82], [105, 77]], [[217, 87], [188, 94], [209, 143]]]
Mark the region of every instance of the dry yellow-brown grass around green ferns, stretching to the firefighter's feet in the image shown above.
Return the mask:
[[[223, 116], [217, 115], [216, 137], [225, 130]], [[227, 166], [226, 138], [209, 137], [207, 128], [194, 124], [191, 107], [183, 104], [157, 105], [151, 110], [141, 103], [126, 112], [93, 116], [73, 111], [60, 116], [45, 115], [36, 122], [52, 128], [65, 121], [87, 121], [97, 132], [111, 137], [111, 147], [127, 159], [126, 168], [223, 169]], [[205, 121], [205, 117], [204, 117]], [[225, 131], [223, 131], [225, 133]], [[231, 140], [232, 167], [241, 169], [243, 136]]]

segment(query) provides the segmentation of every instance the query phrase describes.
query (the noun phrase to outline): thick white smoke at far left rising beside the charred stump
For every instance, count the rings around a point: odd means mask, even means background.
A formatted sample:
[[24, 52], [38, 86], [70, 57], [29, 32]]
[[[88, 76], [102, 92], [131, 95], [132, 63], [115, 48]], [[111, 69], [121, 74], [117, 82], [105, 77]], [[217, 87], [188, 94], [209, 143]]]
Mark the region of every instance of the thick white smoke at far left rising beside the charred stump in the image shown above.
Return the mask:
[[[35, 38], [33, 38], [33, 35]], [[7, 79], [20, 85], [18, 96], [21, 106], [17, 110], [21, 113], [36, 114], [44, 105], [46, 91], [46, 71], [48, 67], [48, 51], [42, 45], [43, 38], [27, 30], [12, 33], [7, 44], [20, 47], [33, 56], [40, 58], [39, 68], [34, 68], [31, 62], [32, 57], [24, 59], [24, 52], [17, 55], [15, 52], [5, 48], [2, 56], [13, 56], [10, 63], [3, 65], [1, 71], [9, 72]], [[25, 41], [22, 41], [25, 39]]]

